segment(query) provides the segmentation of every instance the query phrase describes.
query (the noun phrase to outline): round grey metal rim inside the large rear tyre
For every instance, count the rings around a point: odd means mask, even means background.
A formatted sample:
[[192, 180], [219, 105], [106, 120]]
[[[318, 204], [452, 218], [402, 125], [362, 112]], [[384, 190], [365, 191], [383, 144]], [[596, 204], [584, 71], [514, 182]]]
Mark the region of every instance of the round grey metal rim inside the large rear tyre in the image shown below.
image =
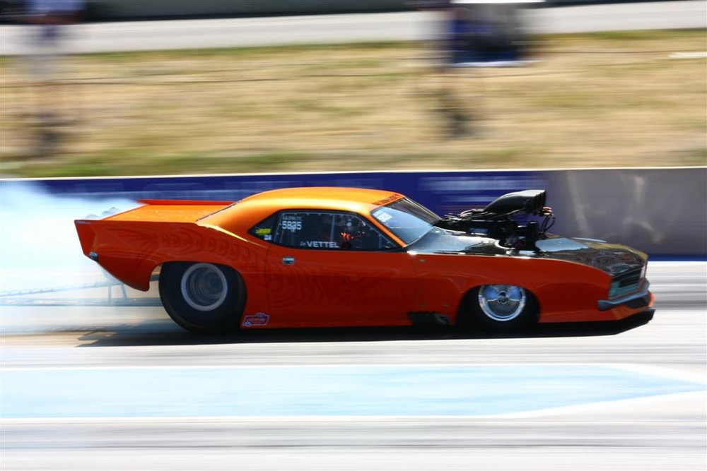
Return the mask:
[[221, 306], [228, 294], [228, 282], [223, 272], [211, 263], [194, 263], [182, 275], [182, 297], [192, 309], [213, 311]]

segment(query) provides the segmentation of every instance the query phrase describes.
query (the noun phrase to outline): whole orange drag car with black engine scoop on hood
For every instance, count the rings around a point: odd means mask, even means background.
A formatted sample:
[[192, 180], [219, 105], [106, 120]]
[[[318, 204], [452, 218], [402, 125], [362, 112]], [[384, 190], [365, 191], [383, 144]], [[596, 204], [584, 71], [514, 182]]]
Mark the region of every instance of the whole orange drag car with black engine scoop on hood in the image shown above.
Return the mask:
[[[266, 191], [241, 201], [141, 201], [76, 220], [83, 253], [160, 298], [182, 327], [515, 329], [610, 321], [653, 303], [647, 257], [549, 234], [544, 191], [439, 217], [402, 194]], [[518, 215], [543, 217], [520, 225]]]

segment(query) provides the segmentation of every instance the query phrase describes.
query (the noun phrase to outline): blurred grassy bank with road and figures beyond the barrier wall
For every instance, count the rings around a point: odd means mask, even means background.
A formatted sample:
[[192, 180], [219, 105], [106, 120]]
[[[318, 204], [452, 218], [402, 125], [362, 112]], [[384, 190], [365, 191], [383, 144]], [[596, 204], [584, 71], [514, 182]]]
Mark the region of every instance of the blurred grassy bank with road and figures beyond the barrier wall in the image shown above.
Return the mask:
[[704, 13], [701, 1], [8, 0], [0, 172], [704, 165]]

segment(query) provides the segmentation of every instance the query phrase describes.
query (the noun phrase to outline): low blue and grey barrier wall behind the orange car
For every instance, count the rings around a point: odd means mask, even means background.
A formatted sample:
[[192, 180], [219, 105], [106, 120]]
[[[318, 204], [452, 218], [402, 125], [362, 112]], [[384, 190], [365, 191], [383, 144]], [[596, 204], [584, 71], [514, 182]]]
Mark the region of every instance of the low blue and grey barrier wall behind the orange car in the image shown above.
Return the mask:
[[556, 215], [552, 232], [607, 239], [653, 256], [707, 256], [707, 167], [0, 180], [5, 189], [28, 182], [59, 198], [133, 201], [238, 201], [291, 186], [354, 186], [403, 193], [439, 215], [486, 205], [510, 191], [547, 189]]

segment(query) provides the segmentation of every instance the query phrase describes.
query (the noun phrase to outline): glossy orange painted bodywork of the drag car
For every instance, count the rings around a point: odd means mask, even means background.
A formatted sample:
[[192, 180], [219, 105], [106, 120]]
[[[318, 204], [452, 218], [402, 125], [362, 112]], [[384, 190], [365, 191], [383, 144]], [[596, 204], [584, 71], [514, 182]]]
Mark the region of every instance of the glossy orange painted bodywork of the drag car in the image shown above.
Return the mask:
[[[253, 323], [250, 328], [401, 326], [411, 323], [413, 311], [443, 314], [455, 323], [469, 290], [495, 284], [518, 285], [532, 293], [541, 323], [617, 320], [647, 307], [599, 311], [597, 300], [607, 299], [612, 277], [588, 264], [408, 251], [370, 216], [400, 198], [404, 196], [390, 191], [303, 188], [259, 193], [238, 203], [146, 201], [102, 220], [77, 220], [76, 229], [83, 254], [97, 257], [111, 275], [139, 290], [148, 289], [151, 275], [163, 263], [234, 268], [247, 292], [243, 316], [269, 316], [266, 326]], [[281, 210], [356, 213], [399, 249], [288, 247], [249, 232]], [[267, 229], [262, 233], [268, 234]]]

